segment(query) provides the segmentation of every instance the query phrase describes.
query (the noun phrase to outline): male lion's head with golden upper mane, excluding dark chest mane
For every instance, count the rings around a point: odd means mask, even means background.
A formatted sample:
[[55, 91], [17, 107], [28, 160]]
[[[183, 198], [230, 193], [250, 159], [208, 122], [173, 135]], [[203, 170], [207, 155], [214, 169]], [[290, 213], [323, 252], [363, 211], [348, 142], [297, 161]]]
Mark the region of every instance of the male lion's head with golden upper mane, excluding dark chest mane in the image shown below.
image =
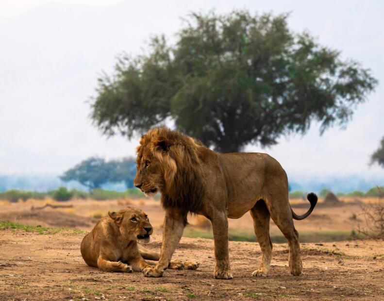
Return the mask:
[[199, 141], [166, 127], [148, 131], [137, 147], [134, 185], [147, 196], [164, 192], [174, 184], [175, 178], [181, 180], [181, 168], [183, 176], [188, 177], [187, 169], [193, 168], [198, 146], [201, 146]]

